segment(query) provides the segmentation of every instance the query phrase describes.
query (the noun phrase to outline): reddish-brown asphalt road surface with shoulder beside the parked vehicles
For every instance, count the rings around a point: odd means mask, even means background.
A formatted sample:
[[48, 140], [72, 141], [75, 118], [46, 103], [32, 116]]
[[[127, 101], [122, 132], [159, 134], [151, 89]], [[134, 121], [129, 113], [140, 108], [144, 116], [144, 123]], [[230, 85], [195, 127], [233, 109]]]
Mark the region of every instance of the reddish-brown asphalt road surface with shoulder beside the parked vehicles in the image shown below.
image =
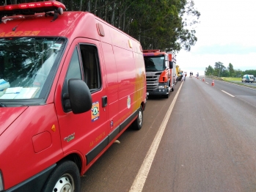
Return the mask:
[[[126, 130], [82, 177], [81, 191], [131, 191], [134, 180], [145, 192], [256, 191], [256, 90], [211, 81], [187, 77], [168, 99], [147, 100], [142, 130]], [[149, 171], [138, 177], [143, 166]]]

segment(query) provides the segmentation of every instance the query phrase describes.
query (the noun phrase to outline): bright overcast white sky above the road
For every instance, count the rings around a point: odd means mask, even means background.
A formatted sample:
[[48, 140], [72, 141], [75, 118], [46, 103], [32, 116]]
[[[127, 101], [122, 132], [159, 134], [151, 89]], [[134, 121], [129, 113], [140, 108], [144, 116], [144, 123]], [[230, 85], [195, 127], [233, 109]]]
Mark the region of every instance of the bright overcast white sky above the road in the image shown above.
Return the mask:
[[205, 67], [222, 62], [256, 70], [256, 0], [194, 0], [194, 7], [201, 14], [197, 43], [176, 53], [180, 69], [205, 75]]

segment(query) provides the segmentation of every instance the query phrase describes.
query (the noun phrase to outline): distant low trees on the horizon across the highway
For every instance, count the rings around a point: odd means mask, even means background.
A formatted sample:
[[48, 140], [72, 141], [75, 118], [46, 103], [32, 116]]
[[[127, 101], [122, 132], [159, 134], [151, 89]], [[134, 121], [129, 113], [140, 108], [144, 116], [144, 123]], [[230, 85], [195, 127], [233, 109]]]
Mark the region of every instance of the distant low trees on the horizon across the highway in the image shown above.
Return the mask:
[[233, 64], [230, 63], [228, 64], [228, 67], [225, 67], [222, 62], [216, 62], [214, 68], [211, 65], [205, 67], [205, 75], [240, 78], [246, 74], [254, 75], [256, 77], [256, 70], [235, 70]]

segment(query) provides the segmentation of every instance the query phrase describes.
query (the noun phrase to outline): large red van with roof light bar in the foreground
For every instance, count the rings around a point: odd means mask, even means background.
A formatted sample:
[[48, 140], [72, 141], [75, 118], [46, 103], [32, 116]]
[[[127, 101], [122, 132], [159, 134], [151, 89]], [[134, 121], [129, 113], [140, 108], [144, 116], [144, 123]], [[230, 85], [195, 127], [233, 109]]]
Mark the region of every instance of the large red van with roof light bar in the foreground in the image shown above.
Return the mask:
[[79, 191], [120, 134], [142, 128], [140, 43], [63, 10], [58, 1], [0, 7], [0, 191]]

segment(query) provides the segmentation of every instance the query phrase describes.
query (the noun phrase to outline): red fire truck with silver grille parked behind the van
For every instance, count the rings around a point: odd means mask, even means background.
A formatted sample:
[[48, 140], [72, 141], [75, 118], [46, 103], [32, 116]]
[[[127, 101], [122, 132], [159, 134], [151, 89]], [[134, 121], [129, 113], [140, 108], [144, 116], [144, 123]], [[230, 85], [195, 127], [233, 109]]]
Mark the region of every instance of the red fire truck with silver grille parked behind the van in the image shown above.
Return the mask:
[[169, 92], [175, 87], [176, 57], [172, 52], [160, 50], [144, 50], [147, 95], [163, 95], [169, 97]]

